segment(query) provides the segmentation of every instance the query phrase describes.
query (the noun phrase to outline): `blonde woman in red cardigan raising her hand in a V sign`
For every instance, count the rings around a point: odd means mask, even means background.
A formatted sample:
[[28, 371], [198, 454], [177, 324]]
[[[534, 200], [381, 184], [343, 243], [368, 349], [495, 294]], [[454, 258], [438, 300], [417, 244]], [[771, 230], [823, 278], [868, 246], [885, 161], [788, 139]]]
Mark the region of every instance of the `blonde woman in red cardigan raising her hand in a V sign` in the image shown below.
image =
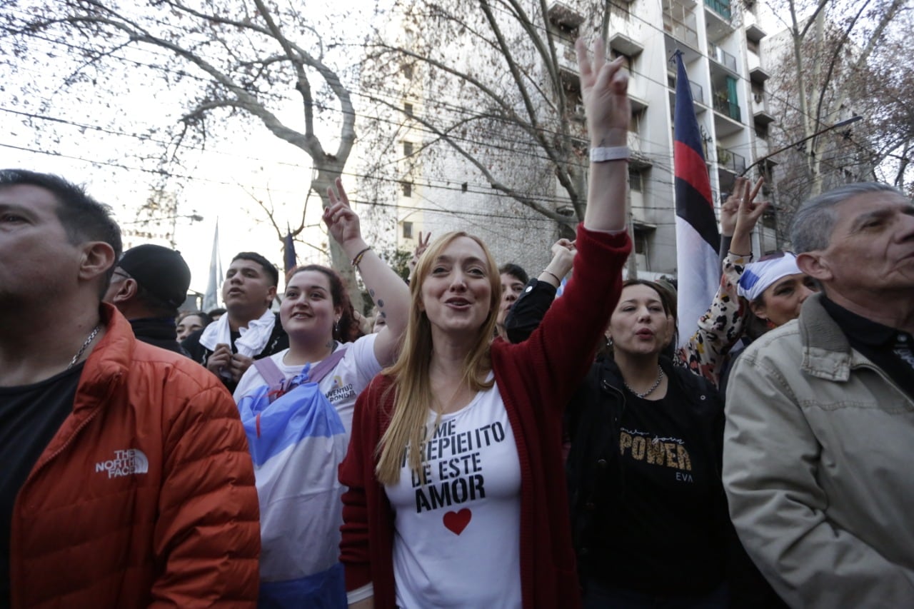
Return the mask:
[[578, 42], [589, 203], [574, 277], [526, 342], [491, 340], [500, 278], [481, 240], [422, 255], [397, 362], [356, 402], [340, 480], [350, 606], [575, 607], [562, 405], [619, 298], [628, 123], [622, 60]]

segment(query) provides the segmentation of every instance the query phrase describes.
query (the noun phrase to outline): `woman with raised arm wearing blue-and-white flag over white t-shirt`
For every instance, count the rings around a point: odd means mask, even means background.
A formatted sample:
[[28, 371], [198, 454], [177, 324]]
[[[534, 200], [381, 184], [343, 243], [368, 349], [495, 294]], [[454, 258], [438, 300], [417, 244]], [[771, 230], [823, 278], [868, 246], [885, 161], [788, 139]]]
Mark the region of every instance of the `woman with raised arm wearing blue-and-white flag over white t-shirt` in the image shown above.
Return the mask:
[[[336, 468], [345, 456], [356, 397], [397, 357], [409, 316], [406, 283], [367, 246], [339, 179], [335, 187], [328, 189], [324, 222], [387, 325], [359, 337], [339, 275], [317, 264], [297, 267], [280, 306], [289, 348], [255, 362], [239, 381], [235, 400], [260, 498], [261, 606], [345, 604], [339, 563], [343, 487]], [[316, 390], [310, 383], [290, 390], [289, 379], [305, 376]], [[277, 386], [273, 378], [285, 380]], [[282, 398], [265, 399], [281, 391]]]

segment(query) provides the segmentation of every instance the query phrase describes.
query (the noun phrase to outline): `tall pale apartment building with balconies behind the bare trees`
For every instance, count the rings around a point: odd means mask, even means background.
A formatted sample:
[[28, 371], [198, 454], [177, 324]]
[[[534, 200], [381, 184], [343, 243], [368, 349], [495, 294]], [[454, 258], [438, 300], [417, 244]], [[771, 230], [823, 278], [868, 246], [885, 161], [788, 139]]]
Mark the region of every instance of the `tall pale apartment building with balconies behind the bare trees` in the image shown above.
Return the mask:
[[[580, 104], [579, 76], [574, 51], [576, 37], [591, 36], [599, 29], [600, 11], [608, 6], [607, 46], [612, 57], [623, 56], [630, 71], [629, 95], [632, 123], [629, 146], [631, 226], [635, 243], [633, 266], [640, 276], [675, 276], [674, 203], [674, 105], [676, 50], [682, 52], [690, 80], [696, 118], [704, 138], [705, 157], [714, 203], [727, 193], [734, 180], [756, 159], [768, 154], [767, 132], [774, 120], [766, 97], [765, 81], [770, 72], [760, 41], [765, 31], [753, 12], [730, 5], [729, 0], [613, 0], [611, 4], [568, 0], [547, 5], [546, 15], [537, 15], [538, 3], [527, 8], [531, 21], [538, 20], [541, 36], [550, 37], [561, 75], [559, 87], [548, 87], [553, 66], [527, 53], [530, 74], [541, 70], [544, 107], [553, 107], [558, 96], [566, 112], [564, 133], [569, 134], [569, 156], [579, 159], [581, 184], [586, 181], [587, 140]], [[520, 27], [520, 25], [518, 25]], [[407, 31], [404, 36], [412, 36]], [[459, 47], [455, 52], [460, 53]], [[522, 50], [517, 50], [517, 57]], [[457, 59], [462, 65], [479, 69], [491, 65], [484, 52]], [[537, 60], [542, 65], [537, 68]], [[421, 62], [407, 62], [399, 78], [401, 99], [396, 103], [409, 112], [428, 112], [430, 100], [441, 104], [442, 90], [427, 79]], [[406, 65], [406, 64], [405, 64]], [[544, 84], [545, 83], [545, 84]], [[551, 96], [551, 99], [550, 99]], [[458, 106], [461, 100], [454, 99]], [[409, 112], [406, 112], [409, 114]], [[544, 121], [545, 123], [545, 121]], [[547, 128], [560, 131], [554, 124]], [[440, 150], [433, 159], [423, 156], [433, 134], [419, 122], [398, 126], [399, 175], [396, 206], [400, 249], [409, 250], [420, 230], [433, 234], [443, 230], [470, 230], [480, 234], [492, 247], [498, 262], [521, 262], [534, 274], [547, 262], [547, 251], [567, 226], [489, 188], [473, 163], [453, 150]], [[492, 141], [492, 164], [505, 162], [505, 146], [498, 134]], [[486, 144], [477, 136], [467, 145]], [[510, 148], [511, 146], [508, 145]], [[511, 156], [509, 151], [506, 155]], [[510, 176], [526, 192], [537, 193], [544, 204], [559, 213], [573, 215], [569, 191], [554, 175], [544, 155], [515, 155], [509, 158]], [[769, 170], [771, 165], [761, 163]], [[574, 171], [572, 171], [574, 173]], [[770, 234], [769, 234], [770, 233]], [[774, 247], [773, 223], [760, 230], [757, 247]]]

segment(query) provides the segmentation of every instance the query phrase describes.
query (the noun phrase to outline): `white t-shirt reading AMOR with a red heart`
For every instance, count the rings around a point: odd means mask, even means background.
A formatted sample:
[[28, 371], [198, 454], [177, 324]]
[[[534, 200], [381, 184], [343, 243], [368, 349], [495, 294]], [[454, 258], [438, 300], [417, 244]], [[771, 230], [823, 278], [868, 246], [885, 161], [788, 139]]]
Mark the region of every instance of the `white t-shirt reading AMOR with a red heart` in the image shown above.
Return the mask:
[[497, 387], [460, 411], [429, 413], [422, 449], [426, 484], [404, 455], [399, 483], [386, 486], [396, 512], [397, 604], [521, 606], [520, 462]]

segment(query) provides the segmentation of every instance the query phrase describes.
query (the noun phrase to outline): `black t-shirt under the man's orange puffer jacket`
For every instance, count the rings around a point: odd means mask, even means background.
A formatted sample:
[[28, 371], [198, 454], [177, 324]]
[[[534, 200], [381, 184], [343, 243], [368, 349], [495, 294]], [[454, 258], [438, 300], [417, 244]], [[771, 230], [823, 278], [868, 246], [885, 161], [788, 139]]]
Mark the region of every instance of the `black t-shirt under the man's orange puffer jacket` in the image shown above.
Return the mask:
[[10, 604], [9, 543], [16, 495], [73, 411], [82, 367], [34, 385], [0, 387], [0, 607]]

